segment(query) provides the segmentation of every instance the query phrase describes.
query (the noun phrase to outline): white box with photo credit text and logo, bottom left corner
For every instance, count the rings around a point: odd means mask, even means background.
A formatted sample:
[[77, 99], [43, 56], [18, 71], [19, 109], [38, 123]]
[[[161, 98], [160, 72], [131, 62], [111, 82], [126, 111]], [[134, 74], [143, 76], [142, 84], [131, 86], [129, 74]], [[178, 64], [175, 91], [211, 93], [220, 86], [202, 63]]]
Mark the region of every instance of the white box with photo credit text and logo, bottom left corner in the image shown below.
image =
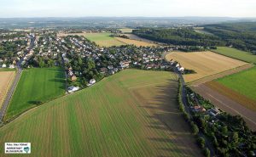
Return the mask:
[[31, 154], [31, 143], [4, 143], [5, 154]]

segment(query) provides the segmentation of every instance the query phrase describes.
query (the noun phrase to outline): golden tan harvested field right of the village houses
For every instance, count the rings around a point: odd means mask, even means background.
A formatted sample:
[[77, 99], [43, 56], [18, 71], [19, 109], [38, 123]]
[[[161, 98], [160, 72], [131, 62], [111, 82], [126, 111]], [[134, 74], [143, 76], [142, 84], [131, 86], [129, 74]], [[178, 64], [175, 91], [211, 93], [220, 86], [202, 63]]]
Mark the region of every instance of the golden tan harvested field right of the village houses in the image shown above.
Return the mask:
[[195, 74], [183, 76], [186, 82], [196, 81], [206, 76], [216, 75], [247, 64], [240, 60], [230, 59], [229, 57], [212, 52], [172, 52], [166, 54], [166, 59], [174, 59], [182, 64], [185, 69], [195, 70]]

